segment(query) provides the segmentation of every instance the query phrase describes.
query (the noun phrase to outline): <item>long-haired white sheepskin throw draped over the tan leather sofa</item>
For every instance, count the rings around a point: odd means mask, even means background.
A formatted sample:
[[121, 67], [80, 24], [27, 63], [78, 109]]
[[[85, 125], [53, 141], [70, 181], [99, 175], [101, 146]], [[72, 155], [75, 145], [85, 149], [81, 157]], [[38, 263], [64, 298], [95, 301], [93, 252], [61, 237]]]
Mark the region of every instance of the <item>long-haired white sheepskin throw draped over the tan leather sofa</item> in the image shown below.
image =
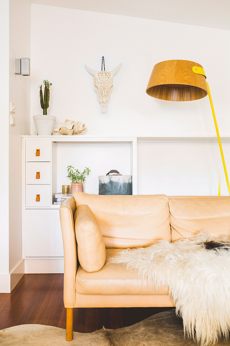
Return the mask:
[[[161, 240], [110, 259], [136, 271], [150, 288], [169, 287], [184, 333], [202, 346], [217, 343], [221, 335], [227, 338], [230, 329], [230, 251], [206, 249], [202, 242], [207, 238], [201, 232], [174, 243]], [[230, 242], [230, 237], [224, 241]]]

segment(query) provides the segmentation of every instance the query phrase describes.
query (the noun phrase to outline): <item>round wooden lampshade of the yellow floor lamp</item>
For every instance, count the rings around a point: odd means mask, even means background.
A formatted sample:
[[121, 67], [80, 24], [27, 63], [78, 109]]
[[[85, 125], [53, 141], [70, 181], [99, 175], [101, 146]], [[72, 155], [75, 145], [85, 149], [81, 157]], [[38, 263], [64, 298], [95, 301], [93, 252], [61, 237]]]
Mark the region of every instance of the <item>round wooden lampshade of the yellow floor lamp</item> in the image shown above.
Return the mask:
[[168, 101], [192, 101], [208, 95], [205, 76], [194, 73], [188, 60], [167, 60], [156, 64], [148, 81], [146, 93]]

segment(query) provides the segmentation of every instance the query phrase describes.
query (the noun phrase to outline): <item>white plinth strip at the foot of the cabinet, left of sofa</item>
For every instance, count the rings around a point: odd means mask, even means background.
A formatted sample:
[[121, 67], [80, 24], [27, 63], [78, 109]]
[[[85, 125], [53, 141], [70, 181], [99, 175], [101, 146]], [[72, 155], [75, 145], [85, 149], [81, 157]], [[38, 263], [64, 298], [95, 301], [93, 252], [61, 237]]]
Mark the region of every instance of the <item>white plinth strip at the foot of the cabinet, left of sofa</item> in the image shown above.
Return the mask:
[[64, 273], [64, 259], [62, 258], [26, 258], [25, 274], [43, 274], [43, 273]]

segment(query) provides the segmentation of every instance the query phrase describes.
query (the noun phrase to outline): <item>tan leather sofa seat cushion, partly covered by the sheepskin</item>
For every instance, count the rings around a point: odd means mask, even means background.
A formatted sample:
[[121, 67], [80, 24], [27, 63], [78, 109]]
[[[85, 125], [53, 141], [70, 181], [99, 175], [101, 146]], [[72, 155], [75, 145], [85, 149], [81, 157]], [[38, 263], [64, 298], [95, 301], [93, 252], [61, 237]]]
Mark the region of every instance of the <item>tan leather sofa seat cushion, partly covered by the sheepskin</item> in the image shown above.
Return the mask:
[[141, 285], [141, 280], [135, 272], [130, 272], [122, 264], [108, 263], [108, 258], [124, 250], [106, 249], [105, 265], [99, 272], [88, 273], [81, 266], [76, 275], [76, 292], [78, 294], [168, 294], [168, 288], [159, 292], [150, 289], [147, 282]]

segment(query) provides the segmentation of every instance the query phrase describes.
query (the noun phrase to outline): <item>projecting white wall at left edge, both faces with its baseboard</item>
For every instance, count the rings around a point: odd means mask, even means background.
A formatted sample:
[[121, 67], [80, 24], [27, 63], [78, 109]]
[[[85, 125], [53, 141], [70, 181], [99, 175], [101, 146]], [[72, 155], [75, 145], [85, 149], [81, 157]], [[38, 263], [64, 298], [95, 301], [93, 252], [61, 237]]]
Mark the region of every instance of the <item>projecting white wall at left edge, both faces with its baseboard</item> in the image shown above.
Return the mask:
[[[2, 0], [0, 13], [0, 292], [10, 292], [24, 273], [21, 135], [29, 134], [30, 129], [30, 78], [15, 75], [14, 58], [30, 57], [30, 1]], [[15, 127], [9, 122], [10, 102], [16, 107]]]

